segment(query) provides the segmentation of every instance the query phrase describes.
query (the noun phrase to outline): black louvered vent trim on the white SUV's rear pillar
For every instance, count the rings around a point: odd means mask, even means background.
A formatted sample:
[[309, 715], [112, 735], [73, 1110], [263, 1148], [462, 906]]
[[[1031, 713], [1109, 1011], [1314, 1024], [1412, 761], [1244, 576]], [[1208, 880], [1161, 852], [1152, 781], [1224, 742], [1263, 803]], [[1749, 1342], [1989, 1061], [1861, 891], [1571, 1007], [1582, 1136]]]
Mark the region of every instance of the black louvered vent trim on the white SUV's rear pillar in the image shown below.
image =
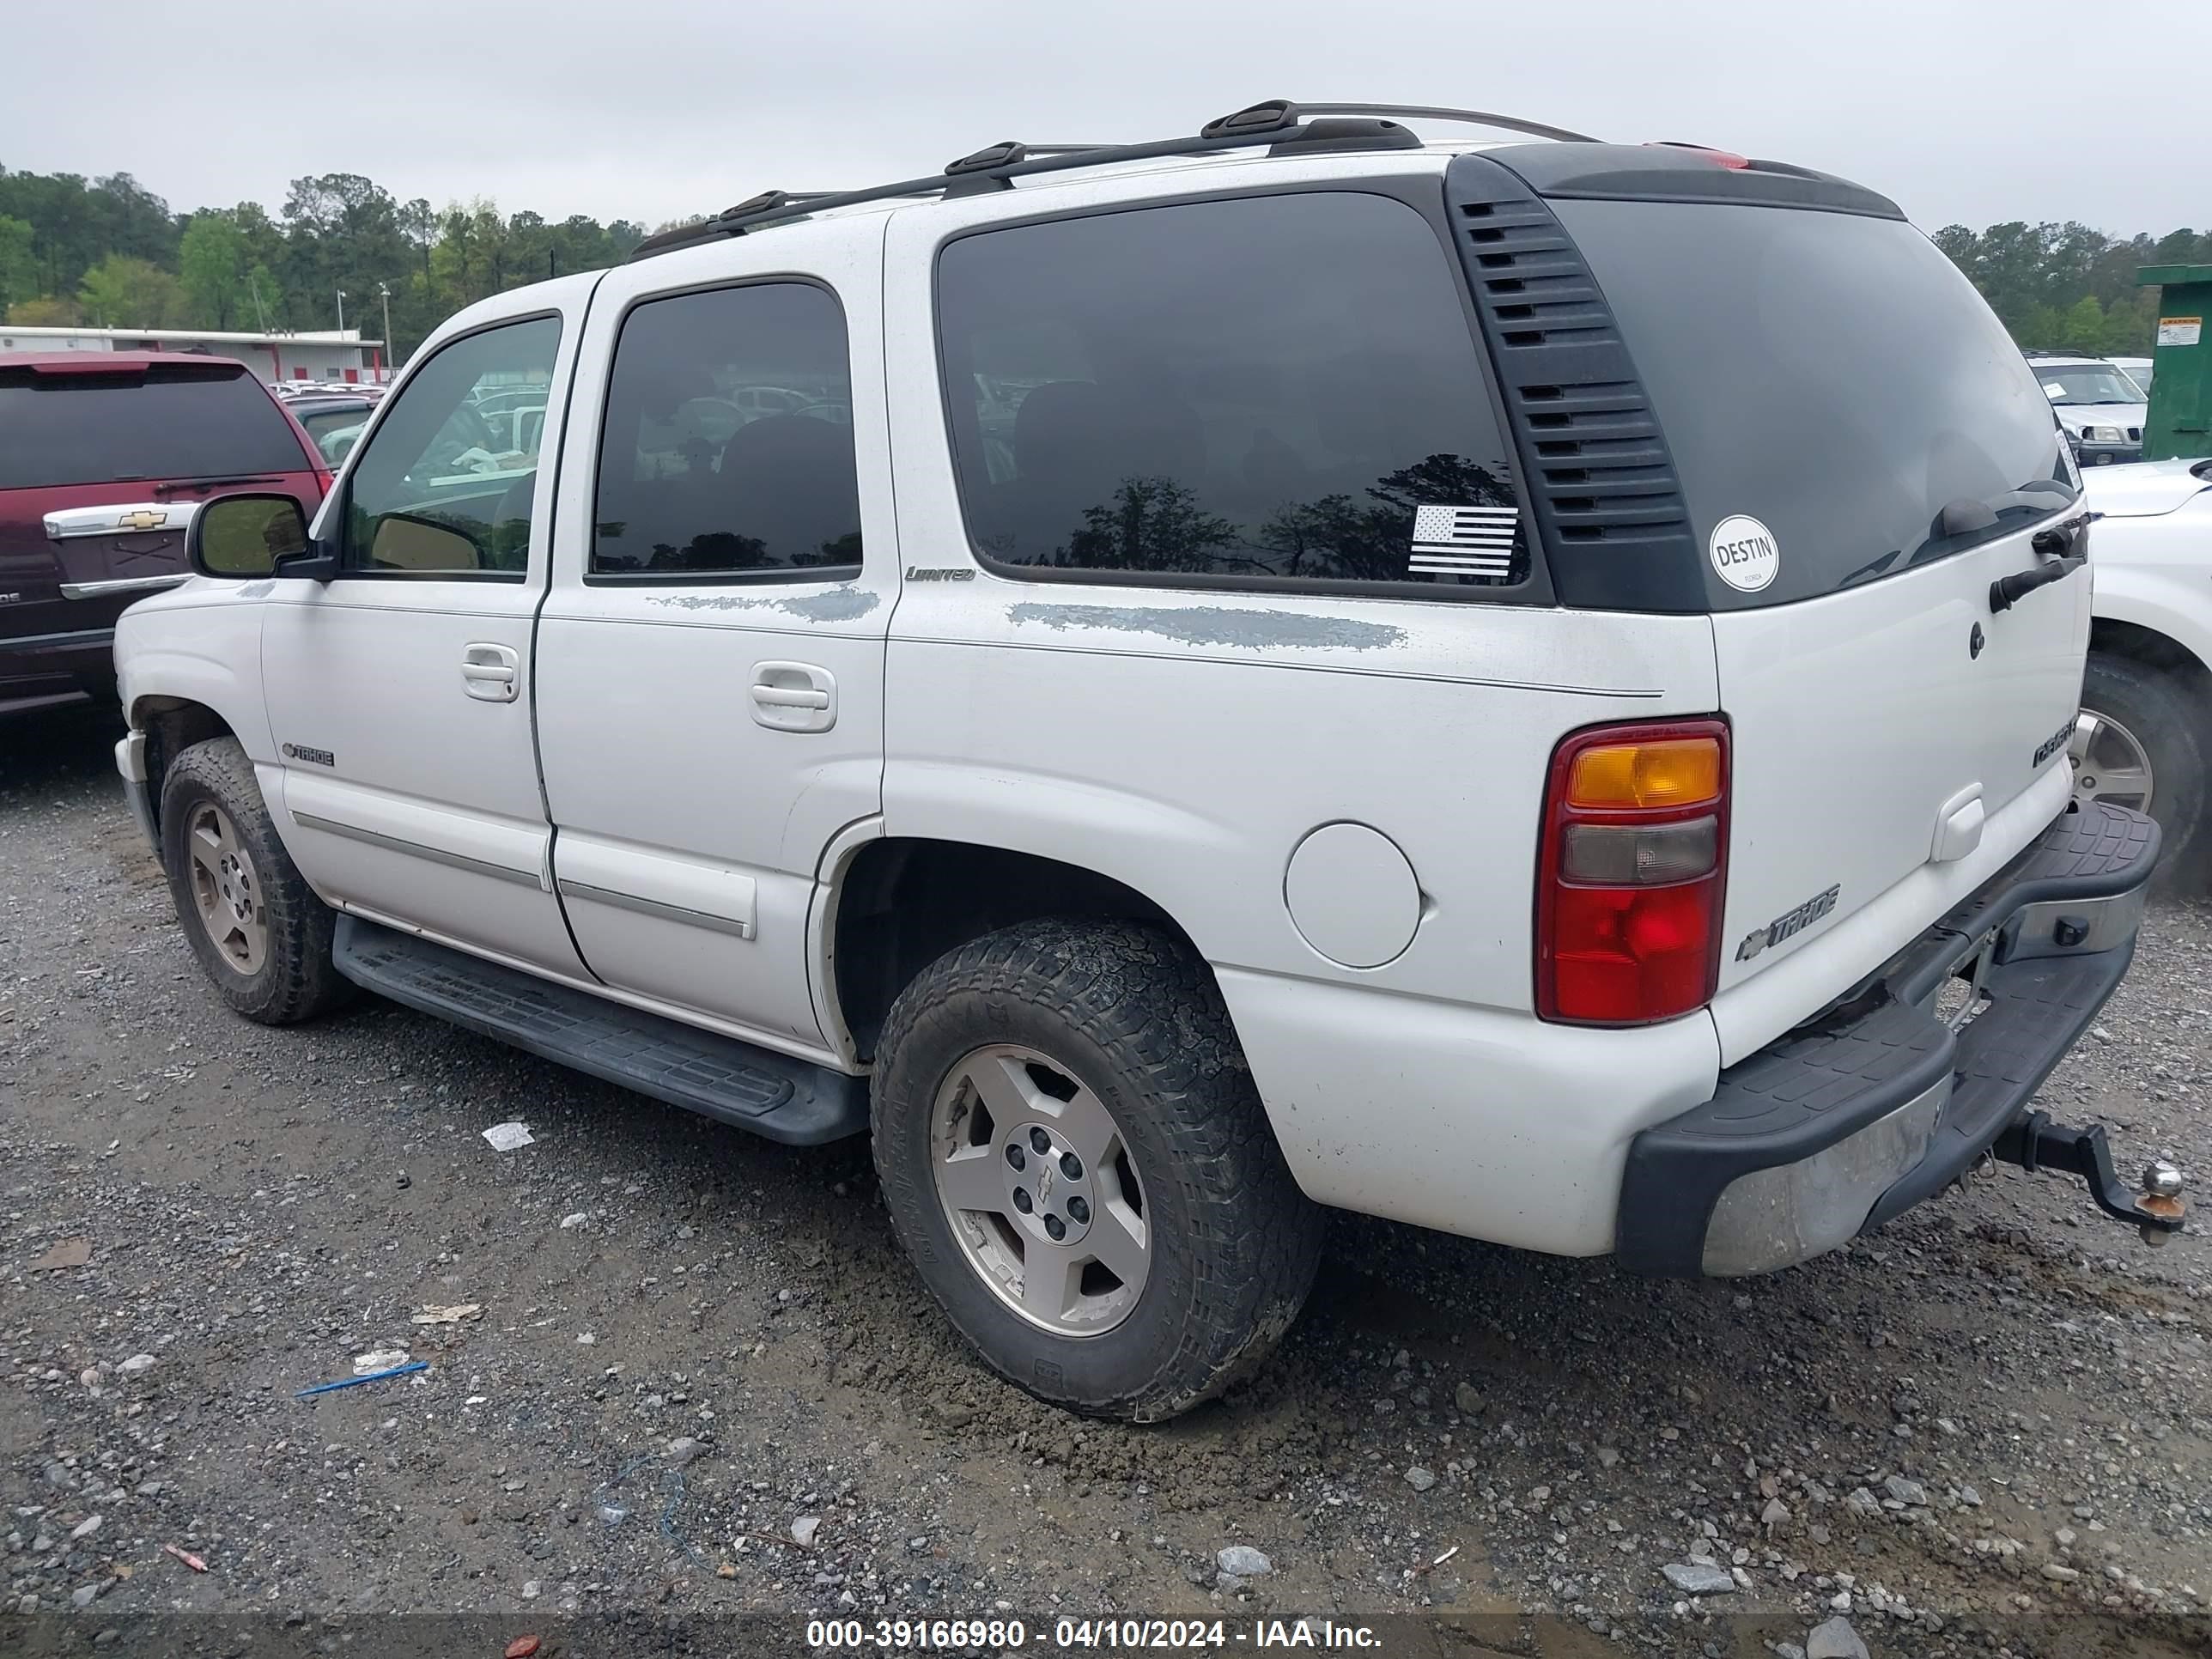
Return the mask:
[[1480, 155], [1444, 173], [1475, 314], [1528, 502], [1566, 604], [1681, 608], [1701, 593], [1681, 482], [1613, 310], [1522, 179]]

